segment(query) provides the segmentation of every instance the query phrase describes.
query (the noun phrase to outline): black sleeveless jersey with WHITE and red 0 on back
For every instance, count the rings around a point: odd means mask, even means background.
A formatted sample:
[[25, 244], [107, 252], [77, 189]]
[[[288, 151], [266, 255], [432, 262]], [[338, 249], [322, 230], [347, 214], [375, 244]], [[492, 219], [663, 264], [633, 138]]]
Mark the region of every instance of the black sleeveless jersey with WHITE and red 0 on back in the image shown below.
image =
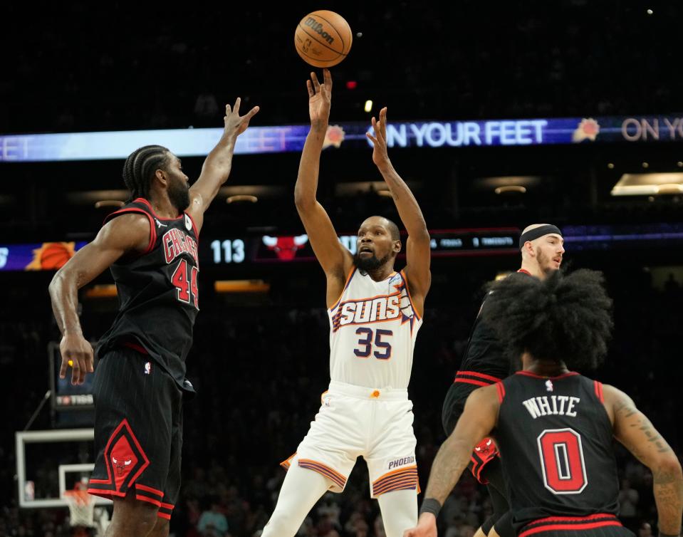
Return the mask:
[[603, 385], [576, 372], [517, 372], [496, 385], [495, 437], [513, 523], [548, 516], [616, 515], [619, 481]]

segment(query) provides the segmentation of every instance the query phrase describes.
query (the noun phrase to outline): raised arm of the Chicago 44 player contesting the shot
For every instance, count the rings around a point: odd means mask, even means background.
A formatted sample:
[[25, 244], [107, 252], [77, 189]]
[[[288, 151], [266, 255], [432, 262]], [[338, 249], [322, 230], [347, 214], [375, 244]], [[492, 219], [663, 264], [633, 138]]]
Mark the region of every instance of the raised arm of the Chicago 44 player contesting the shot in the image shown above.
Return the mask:
[[241, 99], [238, 97], [234, 107], [225, 105], [223, 135], [216, 147], [207, 155], [207, 159], [204, 160], [199, 179], [189, 189], [189, 209], [187, 212], [194, 219], [197, 231], [202, 229], [204, 211], [209, 208], [220, 187], [228, 180], [237, 137], [246, 130], [246, 127], [249, 127], [249, 121], [259, 112], [259, 107], [254, 106], [245, 115], [239, 115], [240, 103]]

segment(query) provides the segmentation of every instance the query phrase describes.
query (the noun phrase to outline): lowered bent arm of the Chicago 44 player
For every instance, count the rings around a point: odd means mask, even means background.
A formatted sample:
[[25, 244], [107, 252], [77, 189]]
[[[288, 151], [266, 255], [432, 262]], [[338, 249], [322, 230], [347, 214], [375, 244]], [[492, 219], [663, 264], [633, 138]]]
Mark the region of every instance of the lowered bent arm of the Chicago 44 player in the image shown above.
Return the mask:
[[71, 383], [83, 384], [93, 372], [93, 347], [83, 338], [78, 321], [78, 289], [93, 281], [127, 253], [142, 252], [150, 243], [150, 221], [143, 214], [122, 214], [105, 224], [95, 240], [83, 246], [50, 283], [52, 311], [62, 333], [59, 376], [66, 377], [71, 360]]

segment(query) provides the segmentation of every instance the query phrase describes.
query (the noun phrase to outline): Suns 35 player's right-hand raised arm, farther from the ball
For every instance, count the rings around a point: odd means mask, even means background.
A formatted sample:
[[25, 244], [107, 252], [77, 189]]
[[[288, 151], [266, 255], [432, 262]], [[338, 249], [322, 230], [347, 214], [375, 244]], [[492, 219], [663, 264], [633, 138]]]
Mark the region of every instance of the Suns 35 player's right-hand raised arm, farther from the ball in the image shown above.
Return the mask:
[[424, 297], [427, 296], [432, 284], [432, 273], [429, 271], [431, 262], [431, 247], [429, 245], [429, 231], [424, 222], [422, 211], [417, 200], [410, 192], [401, 176], [392, 166], [387, 152], [387, 107], [380, 110], [380, 119], [372, 118], [372, 128], [375, 135], [367, 133], [372, 141], [372, 162], [375, 162], [391, 192], [401, 221], [408, 231], [406, 243], [406, 268], [410, 293], [417, 313], [422, 316], [424, 311]]

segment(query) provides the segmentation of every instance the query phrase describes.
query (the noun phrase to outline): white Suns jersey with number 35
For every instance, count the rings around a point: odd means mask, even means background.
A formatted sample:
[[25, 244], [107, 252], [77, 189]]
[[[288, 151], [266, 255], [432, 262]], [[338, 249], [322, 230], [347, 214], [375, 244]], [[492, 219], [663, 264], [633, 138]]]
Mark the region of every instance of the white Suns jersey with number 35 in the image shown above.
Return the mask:
[[374, 281], [354, 269], [330, 316], [331, 380], [407, 388], [422, 325], [403, 271]]

